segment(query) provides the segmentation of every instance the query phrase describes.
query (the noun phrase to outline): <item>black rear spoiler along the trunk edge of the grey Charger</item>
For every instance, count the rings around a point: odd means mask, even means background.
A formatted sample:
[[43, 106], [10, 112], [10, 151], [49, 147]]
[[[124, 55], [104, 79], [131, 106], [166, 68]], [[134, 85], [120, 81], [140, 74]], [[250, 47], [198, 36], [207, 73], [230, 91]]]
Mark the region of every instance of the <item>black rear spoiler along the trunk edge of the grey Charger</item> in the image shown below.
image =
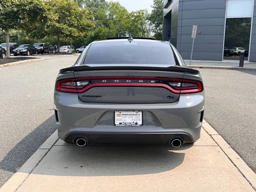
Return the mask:
[[59, 73], [67, 71], [100, 71], [100, 70], [146, 70], [146, 71], [176, 71], [200, 74], [198, 70], [185, 68], [181, 66], [156, 67], [156, 66], [71, 66], [69, 68], [60, 69]]

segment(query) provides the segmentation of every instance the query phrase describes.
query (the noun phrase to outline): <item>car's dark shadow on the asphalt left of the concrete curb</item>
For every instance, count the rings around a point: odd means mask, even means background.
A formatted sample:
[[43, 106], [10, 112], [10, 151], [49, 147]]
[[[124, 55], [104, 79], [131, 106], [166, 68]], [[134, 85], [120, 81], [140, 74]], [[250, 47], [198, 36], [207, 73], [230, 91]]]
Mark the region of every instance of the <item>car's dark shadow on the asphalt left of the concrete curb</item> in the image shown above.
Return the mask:
[[15, 173], [57, 129], [54, 115], [23, 138], [12, 148], [5, 158], [0, 161], [0, 169]]

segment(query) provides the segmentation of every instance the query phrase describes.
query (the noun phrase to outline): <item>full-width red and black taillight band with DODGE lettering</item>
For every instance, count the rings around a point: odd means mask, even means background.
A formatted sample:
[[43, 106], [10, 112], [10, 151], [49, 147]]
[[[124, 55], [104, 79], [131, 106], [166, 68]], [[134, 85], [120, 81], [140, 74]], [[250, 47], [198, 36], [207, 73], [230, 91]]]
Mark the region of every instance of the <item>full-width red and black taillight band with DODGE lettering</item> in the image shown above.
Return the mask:
[[174, 94], [192, 94], [203, 91], [201, 81], [152, 77], [95, 77], [59, 80], [56, 90], [69, 93], [83, 93], [93, 87], [132, 86], [162, 87]]

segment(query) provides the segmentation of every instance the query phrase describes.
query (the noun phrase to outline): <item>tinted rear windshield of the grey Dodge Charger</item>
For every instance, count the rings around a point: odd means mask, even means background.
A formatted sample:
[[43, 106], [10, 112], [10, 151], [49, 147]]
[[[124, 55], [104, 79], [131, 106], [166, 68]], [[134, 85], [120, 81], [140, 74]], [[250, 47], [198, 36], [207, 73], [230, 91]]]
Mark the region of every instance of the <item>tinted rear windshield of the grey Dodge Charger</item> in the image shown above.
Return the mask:
[[93, 43], [84, 64], [176, 65], [170, 44], [134, 41]]

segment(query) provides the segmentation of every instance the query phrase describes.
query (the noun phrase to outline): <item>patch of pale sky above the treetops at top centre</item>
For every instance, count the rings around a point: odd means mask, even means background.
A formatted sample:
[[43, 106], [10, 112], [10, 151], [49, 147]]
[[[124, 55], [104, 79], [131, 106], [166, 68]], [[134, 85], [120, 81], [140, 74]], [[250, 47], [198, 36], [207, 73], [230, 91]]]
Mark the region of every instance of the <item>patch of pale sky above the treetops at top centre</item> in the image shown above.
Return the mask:
[[119, 1], [120, 4], [126, 7], [126, 9], [129, 12], [137, 11], [140, 9], [148, 9], [151, 12], [152, 8], [150, 5], [153, 4], [153, 0], [112, 0], [112, 1]]

